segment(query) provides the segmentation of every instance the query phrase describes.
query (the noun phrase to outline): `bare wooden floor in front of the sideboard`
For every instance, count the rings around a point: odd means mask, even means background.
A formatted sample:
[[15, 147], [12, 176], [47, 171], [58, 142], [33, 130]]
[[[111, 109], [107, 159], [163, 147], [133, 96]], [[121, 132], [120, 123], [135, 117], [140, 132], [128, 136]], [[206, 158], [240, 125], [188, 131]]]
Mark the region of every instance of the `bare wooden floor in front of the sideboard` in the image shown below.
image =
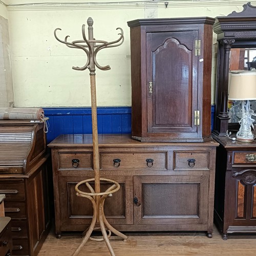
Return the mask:
[[[256, 236], [229, 235], [224, 241], [216, 228], [212, 238], [200, 232], [124, 233], [128, 237], [126, 242], [116, 236], [110, 239], [116, 256], [256, 255]], [[71, 256], [81, 241], [81, 233], [62, 233], [61, 239], [56, 239], [51, 231], [38, 256]], [[104, 241], [89, 240], [79, 256], [110, 256], [110, 253]]]

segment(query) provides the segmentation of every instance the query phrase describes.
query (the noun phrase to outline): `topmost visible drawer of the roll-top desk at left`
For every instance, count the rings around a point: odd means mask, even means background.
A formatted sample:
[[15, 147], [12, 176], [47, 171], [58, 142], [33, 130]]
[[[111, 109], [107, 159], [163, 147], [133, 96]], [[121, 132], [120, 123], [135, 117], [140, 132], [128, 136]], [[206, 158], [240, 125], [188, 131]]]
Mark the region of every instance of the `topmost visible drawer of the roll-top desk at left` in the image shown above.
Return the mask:
[[6, 200], [25, 200], [23, 179], [15, 181], [0, 180], [0, 194], [5, 194]]

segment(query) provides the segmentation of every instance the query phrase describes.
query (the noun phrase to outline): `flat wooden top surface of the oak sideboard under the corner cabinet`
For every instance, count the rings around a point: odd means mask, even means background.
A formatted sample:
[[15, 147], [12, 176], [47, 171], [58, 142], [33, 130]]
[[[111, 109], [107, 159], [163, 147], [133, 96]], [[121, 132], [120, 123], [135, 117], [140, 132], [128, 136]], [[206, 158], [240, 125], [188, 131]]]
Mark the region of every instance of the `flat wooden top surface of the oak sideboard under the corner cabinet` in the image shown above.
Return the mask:
[[[99, 134], [99, 146], [218, 146], [215, 140], [208, 142], [177, 143], [177, 142], [140, 142], [131, 138], [131, 134]], [[49, 147], [84, 147], [92, 146], [92, 134], [62, 134], [55, 138]]]

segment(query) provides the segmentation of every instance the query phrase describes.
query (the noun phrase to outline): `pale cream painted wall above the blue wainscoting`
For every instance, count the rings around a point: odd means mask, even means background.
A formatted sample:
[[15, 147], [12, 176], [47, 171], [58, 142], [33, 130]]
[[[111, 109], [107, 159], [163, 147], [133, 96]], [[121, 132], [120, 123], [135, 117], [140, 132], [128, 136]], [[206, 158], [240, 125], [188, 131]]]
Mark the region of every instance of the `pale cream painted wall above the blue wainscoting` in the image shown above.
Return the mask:
[[[69, 40], [82, 39], [81, 27], [87, 18], [94, 19], [94, 37], [112, 41], [118, 38], [116, 28], [124, 31], [124, 43], [117, 48], [103, 49], [97, 60], [110, 65], [110, 71], [96, 70], [98, 106], [131, 105], [130, 28], [127, 21], [137, 18], [223, 16], [243, 10], [246, 1], [44, 1], [9, 0], [8, 20], [12, 52], [14, 102], [17, 107], [90, 106], [89, 71], [75, 71], [86, 62], [82, 50], [71, 49], [53, 35]], [[57, 4], [61, 2], [62, 4]], [[97, 1], [93, 1], [96, 3]], [[35, 5], [20, 5], [20, 4]], [[80, 4], [77, 4], [80, 3]], [[10, 5], [11, 4], [11, 5]], [[19, 4], [16, 6], [16, 4]], [[255, 5], [251, 2], [252, 5]], [[0, 5], [0, 14], [4, 12]], [[214, 103], [216, 36], [213, 41], [212, 103]]]

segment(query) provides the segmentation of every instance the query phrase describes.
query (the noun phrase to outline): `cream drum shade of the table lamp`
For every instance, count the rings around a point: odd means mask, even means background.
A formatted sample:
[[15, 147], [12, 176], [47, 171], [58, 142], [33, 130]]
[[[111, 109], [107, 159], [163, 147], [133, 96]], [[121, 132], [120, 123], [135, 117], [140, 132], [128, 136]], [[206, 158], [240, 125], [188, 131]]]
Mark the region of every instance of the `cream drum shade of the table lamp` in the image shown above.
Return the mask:
[[256, 71], [233, 70], [229, 76], [230, 100], [256, 99]]

